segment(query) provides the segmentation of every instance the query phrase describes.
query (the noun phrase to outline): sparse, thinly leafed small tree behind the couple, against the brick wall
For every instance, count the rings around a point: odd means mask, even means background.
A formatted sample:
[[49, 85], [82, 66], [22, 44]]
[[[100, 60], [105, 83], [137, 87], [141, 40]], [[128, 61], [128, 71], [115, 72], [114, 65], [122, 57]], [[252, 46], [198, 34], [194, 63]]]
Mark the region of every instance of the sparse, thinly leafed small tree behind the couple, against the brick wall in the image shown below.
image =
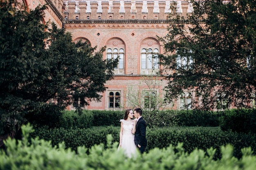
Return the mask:
[[[161, 116], [158, 114], [159, 111], [166, 108], [170, 109], [173, 106], [173, 104], [168, 104], [164, 99], [163, 87], [164, 82], [159, 75], [146, 75], [141, 77], [139, 84], [128, 84], [125, 91], [125, 108], [141, 108], [147, 126], [162, 126], [163, 120], [161, 120]], [[168, 115], [168, 118], [173, 120], [172, 124], [176, 123], [174, 122], [174, 116]]]

